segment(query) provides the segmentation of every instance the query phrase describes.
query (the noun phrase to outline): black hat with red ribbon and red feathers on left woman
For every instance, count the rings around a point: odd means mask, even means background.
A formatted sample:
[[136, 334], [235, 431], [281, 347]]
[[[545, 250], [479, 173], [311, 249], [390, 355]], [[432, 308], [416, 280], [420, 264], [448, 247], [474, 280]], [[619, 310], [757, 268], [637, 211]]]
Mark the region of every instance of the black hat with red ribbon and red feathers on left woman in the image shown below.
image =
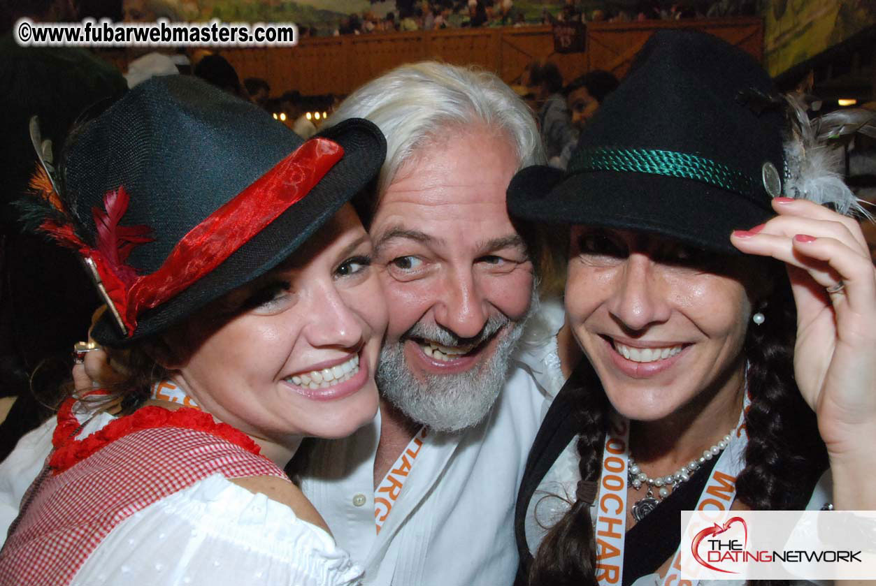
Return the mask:
[[374, 178], [364, 120], [303, 141], [184, 76], [138, 85], [67, 142], [43, 229], [79, 252], [108, 302], [94, 338], [124, 346], [264, 275]]

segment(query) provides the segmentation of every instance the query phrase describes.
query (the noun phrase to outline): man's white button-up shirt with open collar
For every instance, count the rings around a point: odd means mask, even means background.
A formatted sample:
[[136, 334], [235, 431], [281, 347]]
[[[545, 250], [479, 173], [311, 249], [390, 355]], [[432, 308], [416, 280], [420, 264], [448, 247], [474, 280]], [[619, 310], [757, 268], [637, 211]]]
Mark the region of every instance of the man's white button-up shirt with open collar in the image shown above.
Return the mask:
[[301, 490], [337, 544], [364, 565], [365, 584], [513, 582], [514, 504], [535, 434], [562, 387], [556, 357], [562, 323], [562, 306], [544, 303], [527, 324], [487, 419], [462, 433], [426, 437], [379, 534], [374, 521], [379, 415], [353, 436], [316, 445]]

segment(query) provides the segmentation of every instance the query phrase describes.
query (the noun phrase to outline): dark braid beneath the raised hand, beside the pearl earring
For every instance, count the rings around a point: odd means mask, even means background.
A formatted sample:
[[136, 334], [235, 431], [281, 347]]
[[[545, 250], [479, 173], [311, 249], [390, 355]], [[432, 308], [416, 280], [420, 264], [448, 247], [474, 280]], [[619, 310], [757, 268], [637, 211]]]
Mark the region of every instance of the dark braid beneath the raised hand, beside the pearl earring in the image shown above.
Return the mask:
[[794, 378], [796, 310], [784, 273], [763, 310], [766, 321], [748, 328], [745, 339], [752, 405], [736, 488], [739, 500], [760, 511], [804, 508], [828, 465], [816, 415]]

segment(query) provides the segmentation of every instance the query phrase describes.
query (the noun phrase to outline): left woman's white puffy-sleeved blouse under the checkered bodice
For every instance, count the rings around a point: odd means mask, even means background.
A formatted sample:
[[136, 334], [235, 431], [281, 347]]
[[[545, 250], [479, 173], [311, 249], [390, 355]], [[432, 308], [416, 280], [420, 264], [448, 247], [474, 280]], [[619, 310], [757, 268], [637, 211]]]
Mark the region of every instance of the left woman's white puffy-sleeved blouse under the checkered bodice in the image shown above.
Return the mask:
[[[112, 419], [95, 415], [80, 436]], [[4, 535], [51, 450], [54, 427], [52, 418], [26, 435], [0, 464]], [[119, 522], [71, 584], [357, 586], [362, 576], [363, 569], [321, 527], [215, 474]]]

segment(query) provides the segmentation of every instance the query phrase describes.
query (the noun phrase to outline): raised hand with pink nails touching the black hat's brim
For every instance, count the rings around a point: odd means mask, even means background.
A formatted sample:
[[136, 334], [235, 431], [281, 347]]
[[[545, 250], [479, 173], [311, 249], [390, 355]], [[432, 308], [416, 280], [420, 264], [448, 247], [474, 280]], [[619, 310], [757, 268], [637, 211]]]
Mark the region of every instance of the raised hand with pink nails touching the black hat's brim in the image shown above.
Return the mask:
[[795, 378], [827, 445], [835, 504], [876, 508], [876, 269], [856, 220], [806, 200], [774, 199], [773, 207], [778, 216], [734, 232], [731, 242], [786, 263], [797, 308]]

